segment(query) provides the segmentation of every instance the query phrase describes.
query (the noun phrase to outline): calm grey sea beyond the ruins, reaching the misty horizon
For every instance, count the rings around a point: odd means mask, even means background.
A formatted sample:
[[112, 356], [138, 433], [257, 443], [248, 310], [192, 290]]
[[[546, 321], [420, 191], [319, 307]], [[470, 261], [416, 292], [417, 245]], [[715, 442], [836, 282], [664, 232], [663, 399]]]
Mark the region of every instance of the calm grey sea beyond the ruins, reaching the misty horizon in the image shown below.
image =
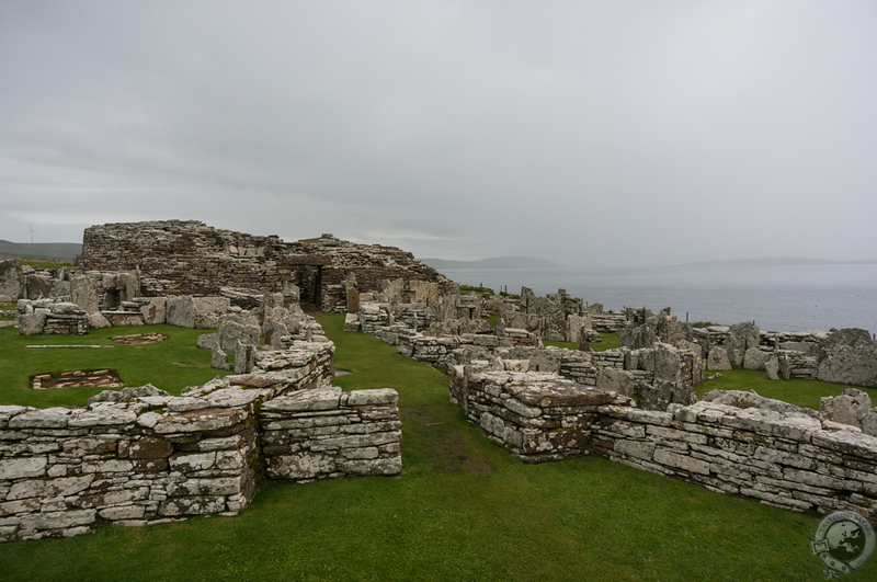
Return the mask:
[[654, 269], [445, 269], [448, 278], [543, 296], [566, 289], [605, 309], [671, 307], [685, 321], [754, 321], [763, 330], [863, 328], [877, 332], [877, 265]]

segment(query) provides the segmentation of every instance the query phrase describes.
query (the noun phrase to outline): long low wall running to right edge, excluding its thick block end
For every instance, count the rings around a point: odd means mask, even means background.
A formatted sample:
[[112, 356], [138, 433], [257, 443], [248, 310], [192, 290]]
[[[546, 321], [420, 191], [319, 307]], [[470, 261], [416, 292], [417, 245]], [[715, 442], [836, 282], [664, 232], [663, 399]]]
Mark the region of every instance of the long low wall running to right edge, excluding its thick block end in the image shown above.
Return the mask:
[[592, 452], [770, 505], [877, 521], [877, 437], [806, 414], [697, 402], [604, 407]]

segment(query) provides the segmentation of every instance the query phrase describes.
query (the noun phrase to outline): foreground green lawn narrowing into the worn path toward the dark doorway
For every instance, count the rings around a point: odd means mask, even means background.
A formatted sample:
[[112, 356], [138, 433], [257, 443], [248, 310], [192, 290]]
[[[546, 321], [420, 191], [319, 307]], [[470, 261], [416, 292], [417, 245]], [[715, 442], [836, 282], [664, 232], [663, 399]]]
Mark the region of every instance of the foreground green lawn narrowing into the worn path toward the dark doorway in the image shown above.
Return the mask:
[[[353, 372], [339, 386], [399, 391], [400, 477], [271, 483], [238, 517], [0, 544], [0, 580], [822, 579], [817, 516], [600, 458], [525, 465], [448, 403], [442, 373], [319, 321]], [[845, 578], [875, 579], [874, 562]]]

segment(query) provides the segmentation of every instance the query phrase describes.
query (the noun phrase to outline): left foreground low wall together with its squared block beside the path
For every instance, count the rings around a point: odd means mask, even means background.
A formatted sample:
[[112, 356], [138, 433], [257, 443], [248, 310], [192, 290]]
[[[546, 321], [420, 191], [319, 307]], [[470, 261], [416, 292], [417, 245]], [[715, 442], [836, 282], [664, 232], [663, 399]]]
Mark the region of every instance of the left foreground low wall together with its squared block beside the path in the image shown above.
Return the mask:
[[[235, 515], [258, 479], [401, 470], [395, 390], [341, 392], [331, 342], [257, 350], [253, 372], [180, 397], [103, 392], [87, 408], [0, 407], [0, 541], [68, 537], [99, 520]], [[160, 390], [151, 388], [151, 393]]]

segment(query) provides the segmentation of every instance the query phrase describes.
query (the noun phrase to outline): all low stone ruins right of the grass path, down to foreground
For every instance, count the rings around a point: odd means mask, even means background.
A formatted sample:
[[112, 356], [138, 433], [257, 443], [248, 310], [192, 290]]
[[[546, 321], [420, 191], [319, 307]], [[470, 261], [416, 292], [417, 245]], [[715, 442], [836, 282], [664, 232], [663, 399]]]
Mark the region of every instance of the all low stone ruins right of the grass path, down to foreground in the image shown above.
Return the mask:
[[[485, 298], [482, 307], [492, 301], [503, 313], [492, 333], [467, 321], [480, 316], [471, 299], [465, 309], [420, 309], [412, 324], [380, 295], [361, 300], [345, 330], [447, 369], [452, 402], [524, 461], [599, 455], [793, 511], [851, 510], [877, 520], [877, 408], [867, 393], [851, 388], [823, 398], [817, 412], [752, 392], [714, 390], [698, 402], [692, 388], [726, 362], [760, 369], [758, 362], [772, 358], [783, 363], [783, 377], [806, 377], [802, 362], [813, 358], [811, 377], [873, 386], [867, 332], [698, 329], [670, 309], [628, 308], [601, 321], [618, 333], [618, 350], [546, 349], [544, 335], [569, 341], [571, 330], [594, 330], [602, 306], [586, 312], [562, 290], [539, 300], [527, 292], [515, 303]], [[536, 341], [516, 345], [512, 330]]]

